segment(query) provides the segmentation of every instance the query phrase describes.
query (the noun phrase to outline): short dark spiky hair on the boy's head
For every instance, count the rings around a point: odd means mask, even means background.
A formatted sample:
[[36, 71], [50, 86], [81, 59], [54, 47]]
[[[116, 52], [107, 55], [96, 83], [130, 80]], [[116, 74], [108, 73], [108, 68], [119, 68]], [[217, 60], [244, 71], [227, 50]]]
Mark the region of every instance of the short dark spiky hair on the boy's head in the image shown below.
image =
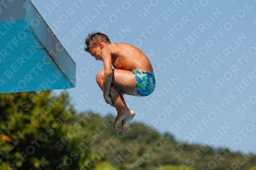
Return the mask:
[[102, 34], [100, 32], [92, 32], [89, 33], [84, 43], [86, 44], [86, 47], [84, 47], [84, 50], [86, 52], [89, 52], [89, 48], [96, 48], [97, 43], [101, 42], [110, 42], [110, 39], [105, 34]]

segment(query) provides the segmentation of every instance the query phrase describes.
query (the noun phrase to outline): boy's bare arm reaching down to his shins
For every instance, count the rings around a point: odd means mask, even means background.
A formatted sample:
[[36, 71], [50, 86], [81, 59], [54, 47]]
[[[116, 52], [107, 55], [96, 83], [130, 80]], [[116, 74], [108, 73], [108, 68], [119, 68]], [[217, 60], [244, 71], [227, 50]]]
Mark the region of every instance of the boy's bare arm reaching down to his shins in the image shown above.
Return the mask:
[[113, 106], [109, 91], [110, 91], [110, 85], [112, 82], [112, 59], [111, 59], [111, 50], [109, 47], [103, 47], [101, 50], [101, 56], [103, 60], [104, 65], [104, 75], [103, 75], [103, 96], [106, 101], [106, 103]]

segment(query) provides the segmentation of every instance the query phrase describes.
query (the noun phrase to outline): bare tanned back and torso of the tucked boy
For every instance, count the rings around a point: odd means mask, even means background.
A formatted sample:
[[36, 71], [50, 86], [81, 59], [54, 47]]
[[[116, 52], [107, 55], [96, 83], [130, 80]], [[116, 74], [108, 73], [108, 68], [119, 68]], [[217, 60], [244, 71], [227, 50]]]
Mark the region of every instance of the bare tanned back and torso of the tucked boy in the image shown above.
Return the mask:
[[154, 74], [150, 60], [139, 48], [126, 43], [110, 43], [103, 48], [111, 52], [114, 68], [127, 71], [137, 69]]

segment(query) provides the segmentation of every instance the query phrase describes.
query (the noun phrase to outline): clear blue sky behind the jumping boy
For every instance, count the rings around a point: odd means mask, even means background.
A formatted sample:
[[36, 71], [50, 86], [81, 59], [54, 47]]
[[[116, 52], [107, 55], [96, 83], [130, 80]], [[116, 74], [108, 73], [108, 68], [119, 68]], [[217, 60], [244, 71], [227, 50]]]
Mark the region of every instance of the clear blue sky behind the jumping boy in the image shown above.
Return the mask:
[[82, 51], [87, 34], [102, 31], [150, 54], [154, 93], [125, 95], [136, 121], [179, 141], [256, 153], [255, 1], [33, 3], [76, 63], [68, 92], [78, 112], [116, 115], [95, 81], [102, 62]]

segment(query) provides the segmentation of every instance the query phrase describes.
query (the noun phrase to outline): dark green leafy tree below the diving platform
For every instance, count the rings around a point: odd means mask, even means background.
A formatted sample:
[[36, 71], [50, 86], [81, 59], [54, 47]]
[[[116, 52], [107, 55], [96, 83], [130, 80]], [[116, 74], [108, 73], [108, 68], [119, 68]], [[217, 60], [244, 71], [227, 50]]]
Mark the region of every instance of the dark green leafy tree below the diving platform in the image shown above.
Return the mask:
[[85, 167], [90, 152], [77, 138], [86, 125], [70, 125], [74, 114], [66, 90], [0, 94], [0, 169]]

